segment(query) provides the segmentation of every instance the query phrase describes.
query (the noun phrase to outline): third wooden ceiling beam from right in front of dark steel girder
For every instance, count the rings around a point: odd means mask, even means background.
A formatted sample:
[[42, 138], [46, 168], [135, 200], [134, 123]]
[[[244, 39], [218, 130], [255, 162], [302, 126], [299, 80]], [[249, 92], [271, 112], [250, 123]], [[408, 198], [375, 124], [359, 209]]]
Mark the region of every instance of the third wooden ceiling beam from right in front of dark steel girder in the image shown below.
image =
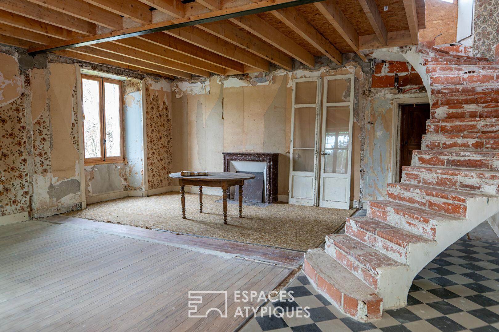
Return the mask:
[[152, 14], [149, 5], [138, 0], [85, 0], [115, 14], [133, 19], [141, 24], [151, 24]]

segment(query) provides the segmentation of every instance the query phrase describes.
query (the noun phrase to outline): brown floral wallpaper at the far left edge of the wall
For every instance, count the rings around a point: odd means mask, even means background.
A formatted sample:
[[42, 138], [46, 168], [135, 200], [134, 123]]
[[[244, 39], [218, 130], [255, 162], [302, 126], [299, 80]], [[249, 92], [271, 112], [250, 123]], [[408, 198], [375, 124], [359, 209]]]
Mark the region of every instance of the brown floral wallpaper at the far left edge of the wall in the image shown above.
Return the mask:
[[26, 110], [22, 93], [0, 107], [0, 216], [29, 209]]

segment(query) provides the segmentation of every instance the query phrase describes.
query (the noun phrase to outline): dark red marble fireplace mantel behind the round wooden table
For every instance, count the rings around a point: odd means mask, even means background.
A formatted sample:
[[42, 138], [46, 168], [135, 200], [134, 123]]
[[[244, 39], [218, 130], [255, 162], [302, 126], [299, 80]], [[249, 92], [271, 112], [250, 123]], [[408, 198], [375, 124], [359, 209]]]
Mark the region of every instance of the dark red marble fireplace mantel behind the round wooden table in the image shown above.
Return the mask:
[[265, 203], [277, 202], [277, 177], [279, 153], [271, 152], [222, 152], [224, 172], [231, 171], [231, 161], [265, 162]]

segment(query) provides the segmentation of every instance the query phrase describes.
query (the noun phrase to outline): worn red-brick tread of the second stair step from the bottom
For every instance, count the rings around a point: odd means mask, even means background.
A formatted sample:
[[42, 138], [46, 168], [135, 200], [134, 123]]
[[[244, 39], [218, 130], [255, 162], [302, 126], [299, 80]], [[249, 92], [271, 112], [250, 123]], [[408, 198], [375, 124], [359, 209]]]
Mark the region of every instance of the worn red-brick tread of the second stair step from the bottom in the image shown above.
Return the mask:
[[404, 265], [347, 234], [327, 235], [326, 241], [376, 273], [381, 268]]

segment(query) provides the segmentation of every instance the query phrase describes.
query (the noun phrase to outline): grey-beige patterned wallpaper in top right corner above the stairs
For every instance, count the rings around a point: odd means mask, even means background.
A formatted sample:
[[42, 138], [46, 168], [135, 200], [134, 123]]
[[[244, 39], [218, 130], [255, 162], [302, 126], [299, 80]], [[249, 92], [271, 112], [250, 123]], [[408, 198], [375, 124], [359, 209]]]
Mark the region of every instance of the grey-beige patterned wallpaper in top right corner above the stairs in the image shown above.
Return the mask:
[[475, 0], [473, 49], [476, 56], [494, 59], [499, 43], [499, 1]]

